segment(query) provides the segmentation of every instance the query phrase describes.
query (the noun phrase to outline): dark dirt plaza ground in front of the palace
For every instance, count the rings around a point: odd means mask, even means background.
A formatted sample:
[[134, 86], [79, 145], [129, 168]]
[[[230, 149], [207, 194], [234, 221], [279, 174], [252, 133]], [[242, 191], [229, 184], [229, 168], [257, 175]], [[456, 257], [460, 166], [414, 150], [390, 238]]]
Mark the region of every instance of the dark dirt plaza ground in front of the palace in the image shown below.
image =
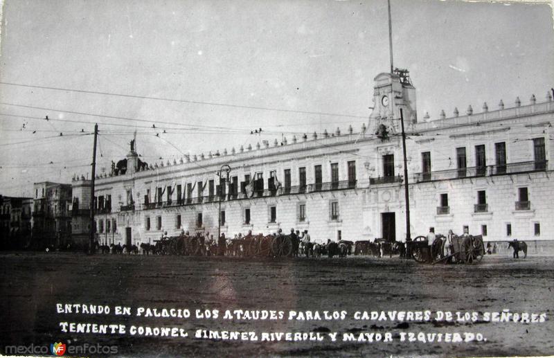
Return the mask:
[[[127, 256], [81, 253], [0, 253], [0, 346], [116, 346], [124, 356], [353, 356], [491, 357], [554, 354], [554, 258], [508, 253], [475, 265], [421, 265], [399, 258], [254, 259]], [[58, 313], [57, 303], [107, 305], [111, 314]], [[132, 315], [114, 314], [131, 307]], [[191, 317], [136, 316], [138, 307], [188, 309]], [[222, 319], [225, 310], [275, 310], [283, 319]], [[545, 314], [542, 323], [490, 322], [488, 312]], [[197, 319], [196, 310], [220, 316]], [[290, 311], [321, 319], [289, 319]], [[355, 319], [359, 312], [431, 311], [431, 319]], [[326, 311], [330, 319], [325, 319]], [[460, 312], [436, 321], [436, 312]], [[333, 312], [346, 312], [332, 319]], [[472, 321], [465, 312], [477, 312]], [[304, 316], [306, 318], [307, 316]], [[370, 317], [369, 317], [370, 318]], [[467, 319], [467, 320], [466, 320]], [[62, 332], [60, 322], [125, 325], [125, 334]], [[181, 328], [189, 336], [139, 337], [129, 328]], [[197, 330], [255, 332], [258, 341], [196, 339]], [[319, 333], [322, 341], [260, 341], [262, 332]], [[328, 338], [337, 332], [337, 341]], [[393, 340], [376, 339], [389, 332]], [[409, 341], [442, 333], [440, 343]], [[446, 343], [447, 333], [483, 334], [483, 341]], [[373, 336], [370, 334], [373, 333]], [[343, 341], [344, 334], [356, 341]], [[294, 337], [294, 336], [293, 336]], [[400, 341], [400, 337], [406, 337]], [[426, 336], [427, 337], [427, 336]], [[435, 336], [438, 337], [438, 336]]]

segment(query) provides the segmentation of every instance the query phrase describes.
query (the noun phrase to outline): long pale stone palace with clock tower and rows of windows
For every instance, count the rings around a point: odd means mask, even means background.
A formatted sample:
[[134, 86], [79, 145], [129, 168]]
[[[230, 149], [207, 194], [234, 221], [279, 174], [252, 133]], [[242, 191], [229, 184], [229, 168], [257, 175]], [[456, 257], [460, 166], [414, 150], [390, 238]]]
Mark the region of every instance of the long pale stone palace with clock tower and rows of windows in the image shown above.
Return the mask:
[[[407, 71], [375, 78], [360, 129], [143, 163], [131, 150], [96, 178], [101, 242], [152, 242], [168, 231], [217, 236], [308, 230], [312, 240], [405, 240], [400, 117], [406, 129], [411, 235], [551, 240], [554, 102], [535, 96], [418, 120]], [[494, 107], [494, 108], [493, 108]], [[229, 165], [229, 167], [226, 167]], [[226, 168], [230, 168], [227, 172]], [[222, 170], [223, 169], [223, 170]], [[218, 174], [220, 174], [218, 176]], [[73, 235], [89, 230], [90, 181], [75, 178]], [[221, 222], [221, 225], [219, 223]]]

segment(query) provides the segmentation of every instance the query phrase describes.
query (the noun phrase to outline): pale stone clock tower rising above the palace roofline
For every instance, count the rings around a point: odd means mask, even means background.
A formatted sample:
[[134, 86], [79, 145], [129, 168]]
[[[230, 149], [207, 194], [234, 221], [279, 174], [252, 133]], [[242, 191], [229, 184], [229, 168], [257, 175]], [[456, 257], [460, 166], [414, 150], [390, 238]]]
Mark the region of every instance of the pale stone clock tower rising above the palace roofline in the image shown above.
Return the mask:
[[[394, 73], [379, 73], [373, 85], [373, 112], [369, 116], [368, 128], [374, 133], [379, 127], [388, 133], [400, 133], [400, 109], [404, 115], [404, 125], [417, 123], [415, 111], [415, 87], [411, 84], [407, 70], [395, 69]], [[383, 126], [382, 126], [383, 125]]]

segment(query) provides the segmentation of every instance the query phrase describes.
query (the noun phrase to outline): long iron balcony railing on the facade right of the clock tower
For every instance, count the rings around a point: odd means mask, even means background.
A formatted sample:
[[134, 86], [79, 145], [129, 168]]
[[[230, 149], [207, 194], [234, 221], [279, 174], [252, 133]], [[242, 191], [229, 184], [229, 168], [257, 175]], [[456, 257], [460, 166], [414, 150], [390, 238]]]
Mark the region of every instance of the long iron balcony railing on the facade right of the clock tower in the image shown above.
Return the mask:
[[470, 167], [449, 170], [437, 170], [435, 172], [420, 172], [414, 174], [416, 183], [425, 181], [463, 179], [472, 177], [485, 177], [490, 175], [517, 174], [524, 172], [544, 171], [548, 161], [523, 161], [501, 165], [488, 165], [486, 167]]

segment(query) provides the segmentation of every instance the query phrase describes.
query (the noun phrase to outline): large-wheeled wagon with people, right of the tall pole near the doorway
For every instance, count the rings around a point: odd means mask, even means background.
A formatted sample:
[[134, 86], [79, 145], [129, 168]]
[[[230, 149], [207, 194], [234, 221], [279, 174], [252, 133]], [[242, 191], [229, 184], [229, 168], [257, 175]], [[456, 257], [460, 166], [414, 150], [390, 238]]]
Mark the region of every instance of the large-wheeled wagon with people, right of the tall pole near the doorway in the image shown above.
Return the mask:
[[472, 264], [481, 261], [485, 255], [481, 235], [454, 236], [452, 243], [449, 243], [445, 236], [439, 234], [430, 249], [427, 238], [418, 236], [409, 245], [415, 261], [431, 262], [433, 265], [439, 262]]

